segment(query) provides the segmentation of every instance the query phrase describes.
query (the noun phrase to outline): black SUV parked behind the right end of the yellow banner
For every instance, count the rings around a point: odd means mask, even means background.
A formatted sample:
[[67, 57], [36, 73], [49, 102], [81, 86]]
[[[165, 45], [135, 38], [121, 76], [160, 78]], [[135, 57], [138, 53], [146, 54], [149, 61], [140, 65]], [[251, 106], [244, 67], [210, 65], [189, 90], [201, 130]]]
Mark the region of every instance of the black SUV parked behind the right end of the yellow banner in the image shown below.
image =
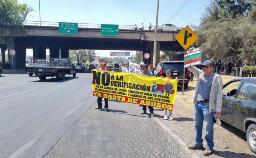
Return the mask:
[[[183, 70], [184, 70], [184, 61], [166, 61], [160, 62], [156, 66], [155, 76], [166, 77], [165, 71], [171, 70], [172, 78], [176, 77], [179, 79], [178, 84], [182, 86], [183, 81]], [[187, 89], [188, 83], [190, 81], [190, 72], [185, 68], [185, 79], [184, 79], [184, 89]]]

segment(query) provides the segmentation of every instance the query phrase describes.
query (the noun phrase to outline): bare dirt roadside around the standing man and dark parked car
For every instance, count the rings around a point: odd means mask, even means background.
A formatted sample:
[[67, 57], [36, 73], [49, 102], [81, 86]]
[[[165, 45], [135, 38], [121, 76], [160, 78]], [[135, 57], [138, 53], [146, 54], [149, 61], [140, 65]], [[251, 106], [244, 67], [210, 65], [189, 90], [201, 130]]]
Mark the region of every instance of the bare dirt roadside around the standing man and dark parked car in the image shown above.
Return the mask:
[[[225, 84], [227, 81], [237, 77], [221, 75], [221, 78], [223, 84]], [[182, 88], [178, 87], [172, 112], [174, 121], [168, 120], [164, 122], [167, 127], [169, 126], [171, 129], [175, 129], [173, 132], [186, 144], [194, 143], [194, 104], [191, 101], [196, 84], [197, 79], [193, 82], [189, 82], [188, 89], [184, 91], [184, 95], [182, 95]], [[160, 109], [156, 110], [156, 114], [164, 116], [164, 112]], [[203, 139], [205, 137], [204, 134], [205, 128], [203, 129]], [[214, 149], [217, 151], [216, 155], [220, 157], [234, 158], [256, 156], [247, 144], [246, 133], [224, 122], [222, 122], [221, 126], [214, 124], [214, 143]], [[206, 147], [205, 139], [203, 145]]]

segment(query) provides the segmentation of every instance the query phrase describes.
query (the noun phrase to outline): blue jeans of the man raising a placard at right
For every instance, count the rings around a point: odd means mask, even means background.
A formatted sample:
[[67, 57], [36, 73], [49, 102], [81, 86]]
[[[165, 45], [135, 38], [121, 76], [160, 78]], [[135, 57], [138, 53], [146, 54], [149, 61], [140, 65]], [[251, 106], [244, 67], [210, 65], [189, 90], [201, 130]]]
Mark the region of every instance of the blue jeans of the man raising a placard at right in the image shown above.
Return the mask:
[[203, 123], [205, 120], [205, 140], [207, 142], [207, 148], [213, 149], [213, 115], [214, 112], [209, 111], [209, 102], [197, 101], [194, 108], [195, 115], [195, 129], [196, 129], [196, 145], [203, 145], [202, 132]]

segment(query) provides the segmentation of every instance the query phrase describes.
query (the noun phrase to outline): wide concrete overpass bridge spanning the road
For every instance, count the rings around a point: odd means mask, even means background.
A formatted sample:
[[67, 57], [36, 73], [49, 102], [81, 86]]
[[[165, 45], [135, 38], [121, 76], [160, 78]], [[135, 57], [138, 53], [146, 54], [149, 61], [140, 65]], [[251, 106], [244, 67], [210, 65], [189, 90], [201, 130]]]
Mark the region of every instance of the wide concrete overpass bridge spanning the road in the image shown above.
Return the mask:
[[[46, 49], [51, 58], [69, 57], [69, 50], [136, 50], [150, 53], [153, 63], [154, 30], [134, 30], [131, 25], [119, 25], [118, 35], [101, 35], [100, 24], [78, 24], [78, 34], [59, 33], [58, 22], [27, 21], [25, 32], [9, 42], [10, 49], [16, 51], [14, 68], [24, 68], [26, 49], [33, 49], [34, 58], [46, 58]], [[178, 32], [159, 31], [157, 33], [157, 62], [160, 51], [180, 51], [182, 47], [175, 40]], [[9, 56], [9, 63], [12, 63]]]

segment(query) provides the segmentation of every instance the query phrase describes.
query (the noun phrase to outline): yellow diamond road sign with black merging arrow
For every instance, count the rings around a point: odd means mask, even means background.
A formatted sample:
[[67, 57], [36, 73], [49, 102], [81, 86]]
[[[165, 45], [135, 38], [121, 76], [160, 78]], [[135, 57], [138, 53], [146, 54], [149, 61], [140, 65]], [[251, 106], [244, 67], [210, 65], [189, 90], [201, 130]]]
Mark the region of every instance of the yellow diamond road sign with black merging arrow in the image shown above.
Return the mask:
[[180, 31], [175, 38], [184, 49], [187, 49], [199, 39], [189, 26]]

